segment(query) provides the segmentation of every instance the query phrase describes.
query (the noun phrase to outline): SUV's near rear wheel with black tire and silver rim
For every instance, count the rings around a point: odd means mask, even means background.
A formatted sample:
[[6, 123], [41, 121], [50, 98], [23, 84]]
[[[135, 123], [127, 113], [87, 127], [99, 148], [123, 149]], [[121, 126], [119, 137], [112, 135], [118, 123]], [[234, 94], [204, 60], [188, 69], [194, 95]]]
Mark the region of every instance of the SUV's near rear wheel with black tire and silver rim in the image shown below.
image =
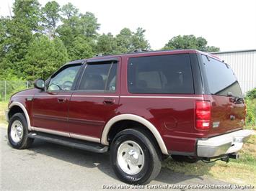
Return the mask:
[[112, 140], [110, 163], [117, 177], [130, 185], [145, 185], [160, 172], [162, 163], [146, 131], [125, 129]]

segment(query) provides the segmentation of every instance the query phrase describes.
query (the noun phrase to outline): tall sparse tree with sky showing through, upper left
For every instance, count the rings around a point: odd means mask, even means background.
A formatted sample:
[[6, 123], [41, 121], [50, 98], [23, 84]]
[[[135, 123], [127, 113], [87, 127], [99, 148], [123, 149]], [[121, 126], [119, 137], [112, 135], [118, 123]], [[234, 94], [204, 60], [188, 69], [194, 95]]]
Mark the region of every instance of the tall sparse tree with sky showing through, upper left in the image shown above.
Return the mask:
[[60, 19], [60, 6], [56, 1], [49, 1], [42, 9], [43, 27], [50, 38], [56, 36], [57, 22]]

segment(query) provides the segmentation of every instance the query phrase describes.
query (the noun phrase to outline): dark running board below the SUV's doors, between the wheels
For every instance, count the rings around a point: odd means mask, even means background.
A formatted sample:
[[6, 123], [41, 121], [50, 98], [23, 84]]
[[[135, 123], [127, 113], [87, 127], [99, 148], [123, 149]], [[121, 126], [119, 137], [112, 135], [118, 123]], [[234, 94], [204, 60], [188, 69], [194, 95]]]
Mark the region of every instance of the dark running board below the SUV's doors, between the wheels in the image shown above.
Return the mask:
[[41, 139], [43, 141], [61, 144], [63, 146], [69, 146], [76, 149], [82, 149], [89, 152], [105, 153], [108, 151], [108, 146], [89, 141], [81, 141], [79, 139], [73, 139], [64, 136], [45, 134], [41, 132], [31, 132], [27, 136], [33, 139]]

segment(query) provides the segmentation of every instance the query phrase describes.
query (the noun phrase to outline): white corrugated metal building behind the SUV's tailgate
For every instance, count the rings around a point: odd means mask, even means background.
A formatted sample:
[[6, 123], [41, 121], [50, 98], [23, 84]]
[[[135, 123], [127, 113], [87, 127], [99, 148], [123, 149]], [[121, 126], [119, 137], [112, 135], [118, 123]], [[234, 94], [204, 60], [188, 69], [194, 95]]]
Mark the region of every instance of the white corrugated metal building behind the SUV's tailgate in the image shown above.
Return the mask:
[[256, 88], [256, 50], [213, 52], [229, 64], [242, 88], [242, 92]]

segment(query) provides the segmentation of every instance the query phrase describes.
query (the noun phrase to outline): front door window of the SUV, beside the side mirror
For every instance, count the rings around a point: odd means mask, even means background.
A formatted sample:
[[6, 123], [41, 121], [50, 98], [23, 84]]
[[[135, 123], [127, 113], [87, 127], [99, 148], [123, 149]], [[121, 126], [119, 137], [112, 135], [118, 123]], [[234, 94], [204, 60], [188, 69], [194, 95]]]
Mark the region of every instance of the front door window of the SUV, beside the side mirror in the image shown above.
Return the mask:
[[48, 90], [71, 90], [81, 65], [71, 65], [50, 78]]

